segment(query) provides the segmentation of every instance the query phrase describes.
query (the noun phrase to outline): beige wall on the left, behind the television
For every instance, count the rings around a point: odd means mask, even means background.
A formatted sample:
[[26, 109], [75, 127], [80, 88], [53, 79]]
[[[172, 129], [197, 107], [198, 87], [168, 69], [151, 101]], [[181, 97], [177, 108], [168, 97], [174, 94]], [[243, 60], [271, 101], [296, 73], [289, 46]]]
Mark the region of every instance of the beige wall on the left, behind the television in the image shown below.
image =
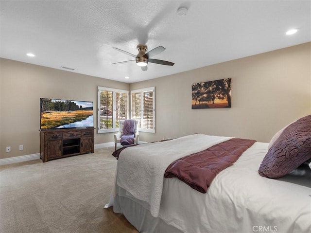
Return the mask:
[[[93, 101], [96, 109], [98, 86], [129, 90], [126, 83], [1, 58], [0, 158], [39, 153], [40, 98]], [[95, 144], [112, 141], [113, 133], [95, 133]]]

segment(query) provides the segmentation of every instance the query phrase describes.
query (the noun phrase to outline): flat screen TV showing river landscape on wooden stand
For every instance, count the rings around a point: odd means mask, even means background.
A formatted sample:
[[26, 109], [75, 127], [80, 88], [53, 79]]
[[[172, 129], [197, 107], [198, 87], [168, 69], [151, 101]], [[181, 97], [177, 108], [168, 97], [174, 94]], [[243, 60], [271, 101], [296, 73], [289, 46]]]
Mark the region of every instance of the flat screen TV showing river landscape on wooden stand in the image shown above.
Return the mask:
[[93, 102], [40, 98], [40, 129], [94, 127]]

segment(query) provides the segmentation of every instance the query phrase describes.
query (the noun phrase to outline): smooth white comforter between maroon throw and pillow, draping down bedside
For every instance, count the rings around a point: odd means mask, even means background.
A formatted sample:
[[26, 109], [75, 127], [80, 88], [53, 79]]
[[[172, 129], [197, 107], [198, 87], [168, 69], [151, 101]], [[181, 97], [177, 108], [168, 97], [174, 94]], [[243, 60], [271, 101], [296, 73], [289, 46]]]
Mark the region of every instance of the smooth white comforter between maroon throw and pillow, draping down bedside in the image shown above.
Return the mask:
[[206, 194], [165, 179], [159, 217], [187, 233], [311, 233], [311, 188], [259, 176], [267, 147], [251, 146]]

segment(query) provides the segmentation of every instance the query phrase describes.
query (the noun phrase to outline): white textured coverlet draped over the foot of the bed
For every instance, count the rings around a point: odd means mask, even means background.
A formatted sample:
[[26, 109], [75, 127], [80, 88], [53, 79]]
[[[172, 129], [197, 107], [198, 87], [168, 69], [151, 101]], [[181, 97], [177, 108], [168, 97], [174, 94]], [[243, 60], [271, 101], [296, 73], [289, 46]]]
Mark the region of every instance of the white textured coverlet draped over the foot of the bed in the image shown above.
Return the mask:
[[145, 207], [157, 217], [166, 168], [177, 159], [229, 139], [193, 134], [171, 141], [129, 147], [119, 156], [117, 184], [133, 197], [145, 202]]

